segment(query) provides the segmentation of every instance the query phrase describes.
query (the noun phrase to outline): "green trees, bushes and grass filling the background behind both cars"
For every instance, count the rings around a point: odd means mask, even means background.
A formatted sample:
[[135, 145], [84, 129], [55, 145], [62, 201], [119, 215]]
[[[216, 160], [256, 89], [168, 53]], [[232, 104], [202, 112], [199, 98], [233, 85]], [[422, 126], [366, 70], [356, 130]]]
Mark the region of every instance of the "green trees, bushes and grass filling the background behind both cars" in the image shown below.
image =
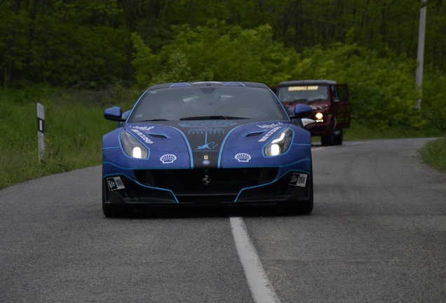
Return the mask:
[[[0, 0], [0, 151], [19, 157], [0, 165], [36, 157], [36, 102], [48, 159], [22, 173], [100, 163], [100, 137], [114, 127], [100, 120], [104, 107], [128, 109], [170, 81], [332, 79], [349, 83], [353, 125], [442, 135], [446, 5], [424, 4], [420, 90], [419, 0]], [[20, 170], [11, 174], [3, 186]]]

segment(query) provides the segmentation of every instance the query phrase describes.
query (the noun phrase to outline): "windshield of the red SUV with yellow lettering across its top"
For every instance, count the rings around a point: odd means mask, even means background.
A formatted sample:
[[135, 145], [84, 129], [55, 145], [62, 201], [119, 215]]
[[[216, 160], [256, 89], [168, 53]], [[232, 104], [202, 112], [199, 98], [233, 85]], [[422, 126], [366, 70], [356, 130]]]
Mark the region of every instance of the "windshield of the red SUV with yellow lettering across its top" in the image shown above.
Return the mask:
[[327, 86], [298, 85], [279, 89], [278, 97], [282, 102], [313, 102], [327, 100]]

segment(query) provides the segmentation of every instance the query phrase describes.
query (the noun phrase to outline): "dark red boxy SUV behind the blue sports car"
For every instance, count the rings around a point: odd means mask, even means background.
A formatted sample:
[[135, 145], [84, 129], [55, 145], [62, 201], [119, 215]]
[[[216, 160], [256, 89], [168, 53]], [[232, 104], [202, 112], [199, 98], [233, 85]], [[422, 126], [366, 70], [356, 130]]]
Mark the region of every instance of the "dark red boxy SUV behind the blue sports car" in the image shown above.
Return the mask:
[[331, 80], [301, 80], [278, 83], [276, 94], [292, 110], [303, 103], [313, 108], [316, 126], [311, 135], [320, 136], [323, 145], [338, 145], [344, 140], [344, 128], [350, 127], [350, 100], [347, 84]]

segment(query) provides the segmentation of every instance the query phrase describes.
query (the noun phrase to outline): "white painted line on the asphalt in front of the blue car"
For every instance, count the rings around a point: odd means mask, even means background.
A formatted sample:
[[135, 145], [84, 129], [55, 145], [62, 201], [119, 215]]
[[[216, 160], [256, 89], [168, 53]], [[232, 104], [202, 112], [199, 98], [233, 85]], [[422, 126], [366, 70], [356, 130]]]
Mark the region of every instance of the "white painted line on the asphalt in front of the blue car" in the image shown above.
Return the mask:
[[236, 242], [238, 257], [243, 265], [252, 299], [257, 303], [280, 303], [262, 263], [252, 245], [245, 223], [241, 217], [231, 217], [231, 228]]

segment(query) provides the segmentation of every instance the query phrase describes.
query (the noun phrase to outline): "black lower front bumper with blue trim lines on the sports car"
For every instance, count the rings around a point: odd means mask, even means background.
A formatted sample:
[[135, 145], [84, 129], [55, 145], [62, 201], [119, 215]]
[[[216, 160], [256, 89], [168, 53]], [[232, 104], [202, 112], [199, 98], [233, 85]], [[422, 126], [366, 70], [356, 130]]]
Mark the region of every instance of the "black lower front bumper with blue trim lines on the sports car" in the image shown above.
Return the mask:
[[257, 168], [250, 172], [245, 170], [242, 175], [242, 171], [234, 170], [231, 173], [238, 175], [233, 175], [227, 170], [221, 174], [216, 171], [175, 170], [167, 175], [156, 172], [149, 177], [147, 172], [137, 173], [135, 175], [140, 176], [136, 180], [123, 174], [107, 175], [102, 179], [103, 203], [123, 206], [278, 204], [312, 198], [313, 182], [309, 172], [290, 170], [276, 178], [272, 175], [277, 171]]

